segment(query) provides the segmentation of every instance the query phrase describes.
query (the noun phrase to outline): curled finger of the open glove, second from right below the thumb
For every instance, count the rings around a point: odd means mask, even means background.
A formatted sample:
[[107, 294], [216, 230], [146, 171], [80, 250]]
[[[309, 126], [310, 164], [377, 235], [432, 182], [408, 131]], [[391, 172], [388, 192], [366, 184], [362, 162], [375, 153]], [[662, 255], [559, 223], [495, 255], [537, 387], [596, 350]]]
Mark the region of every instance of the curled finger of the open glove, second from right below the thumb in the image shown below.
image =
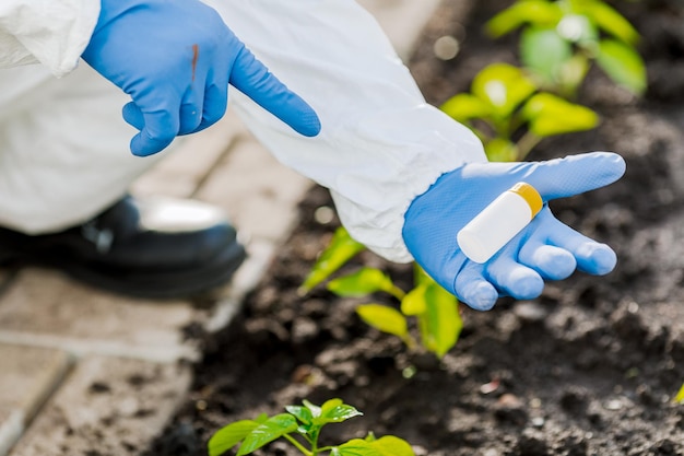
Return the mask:
[[530, 224], [530, 236], [518, 252], [518, 261], [547, 280], [563, 280], [573, 274], [577, 260], [565, 248], [550, 244], [550, 233], [565, 226], [544, 208]]

